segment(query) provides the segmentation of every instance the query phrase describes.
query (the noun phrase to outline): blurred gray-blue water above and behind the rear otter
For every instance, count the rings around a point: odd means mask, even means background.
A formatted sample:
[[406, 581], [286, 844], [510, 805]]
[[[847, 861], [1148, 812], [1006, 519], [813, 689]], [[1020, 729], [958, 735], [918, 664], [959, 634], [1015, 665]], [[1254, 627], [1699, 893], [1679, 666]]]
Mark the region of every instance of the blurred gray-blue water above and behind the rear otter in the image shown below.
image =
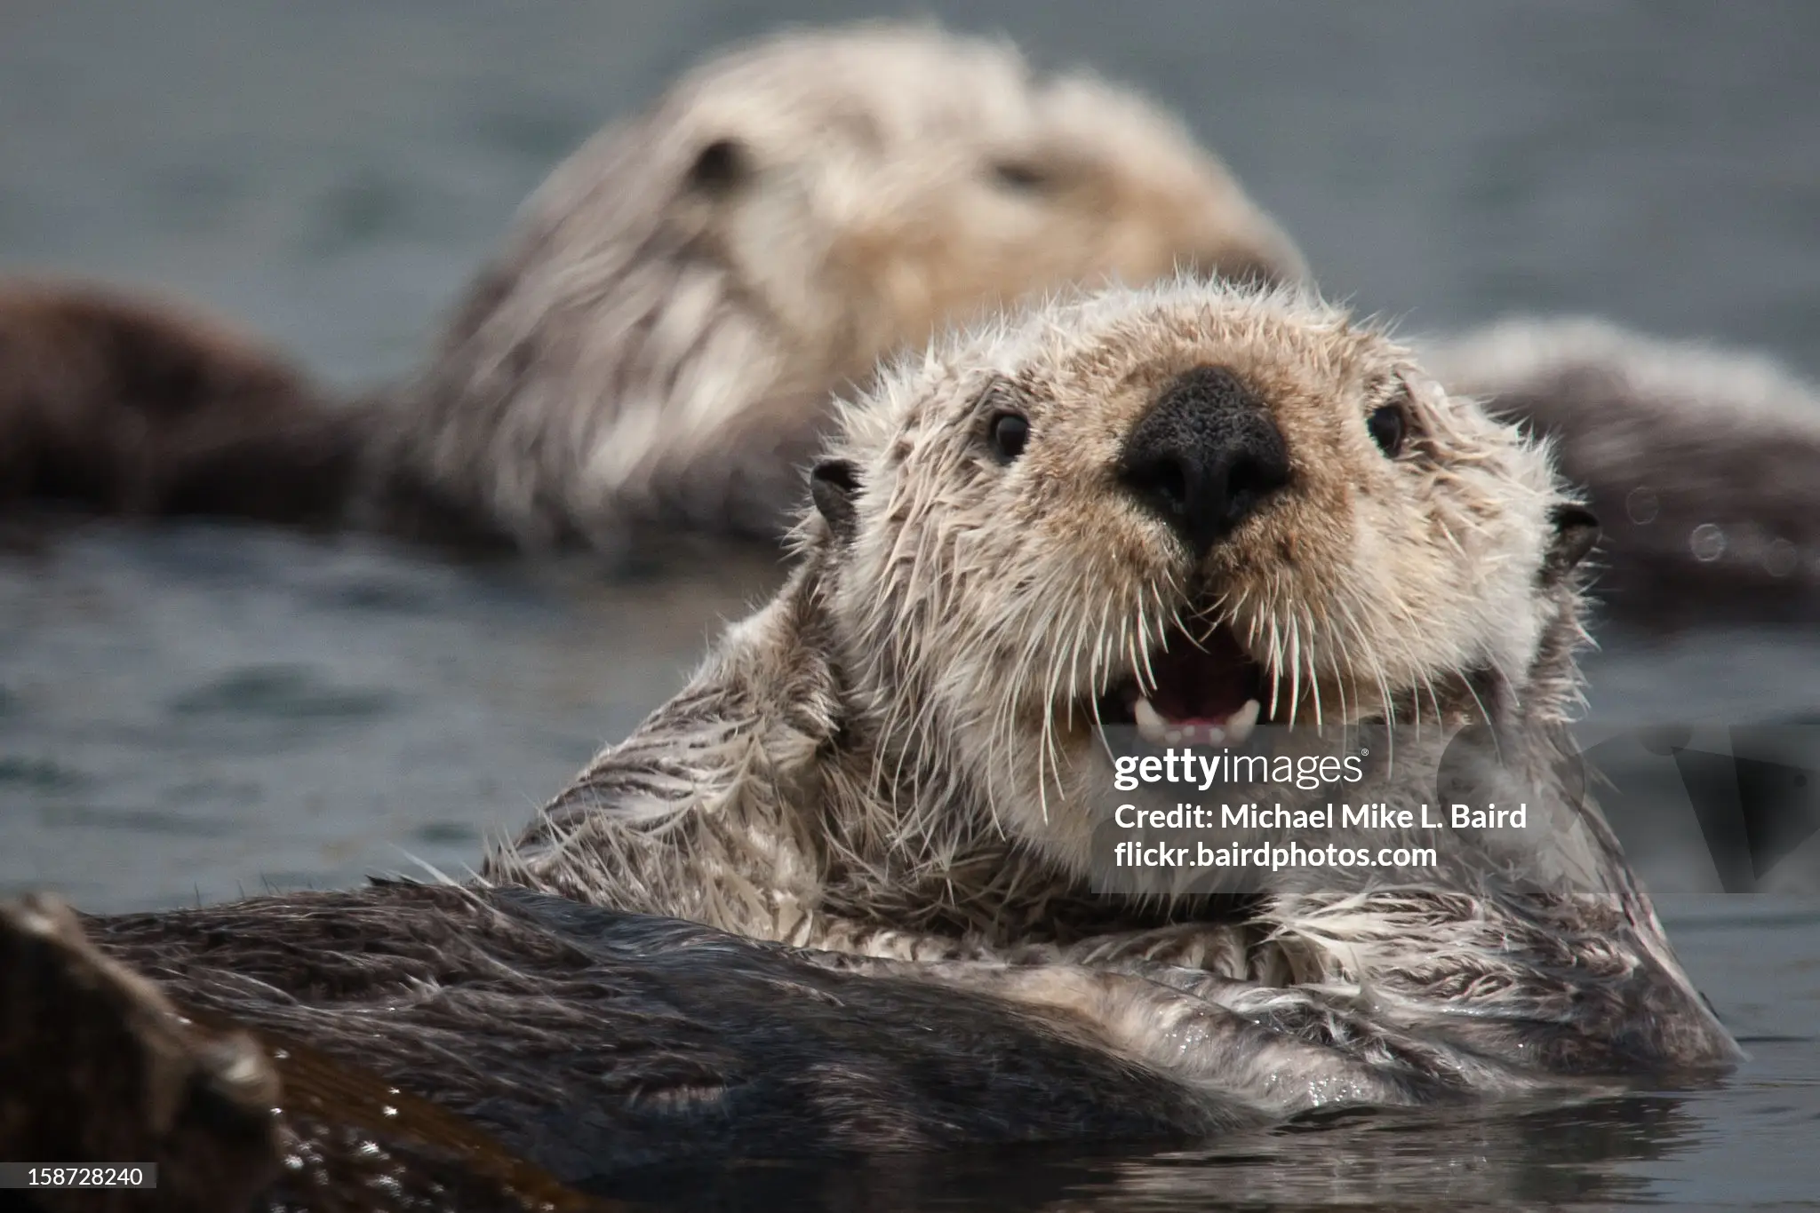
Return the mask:
[[1360, 306], [1591, 309], [1820, 371], [1805, 0], [9, 0], [0, 264], [180, 287], [368, 382], [604, 118], [864, 15], [1141, 87]]

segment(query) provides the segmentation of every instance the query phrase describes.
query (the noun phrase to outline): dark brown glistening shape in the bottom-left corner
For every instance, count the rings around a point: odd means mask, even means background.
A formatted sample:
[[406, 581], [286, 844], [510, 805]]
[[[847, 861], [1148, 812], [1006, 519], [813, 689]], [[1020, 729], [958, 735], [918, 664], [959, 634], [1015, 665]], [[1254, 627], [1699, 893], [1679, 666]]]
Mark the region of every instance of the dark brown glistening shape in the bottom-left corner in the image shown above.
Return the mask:
[[38, 1191], [33, 1208], [612, 1208], [369, 1071], [178, 1011], [51, 898], [0, 906], [0, 1157], [157, 1168], [146, 1189]]

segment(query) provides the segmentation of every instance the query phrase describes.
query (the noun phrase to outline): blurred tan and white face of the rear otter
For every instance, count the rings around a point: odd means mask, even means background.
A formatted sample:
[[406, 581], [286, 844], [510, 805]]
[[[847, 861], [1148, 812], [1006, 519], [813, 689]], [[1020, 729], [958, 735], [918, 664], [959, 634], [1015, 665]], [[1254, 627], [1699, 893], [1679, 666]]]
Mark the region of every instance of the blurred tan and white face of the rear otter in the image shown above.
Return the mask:
[[713, 207], [715, 255], [835, 376], [1077, 282], [1303, 273], [1176, 124], [1087, 78], [1034, 78], [1003, 45], [797, 35], [712, 64], [682, 98], [688, 206]]

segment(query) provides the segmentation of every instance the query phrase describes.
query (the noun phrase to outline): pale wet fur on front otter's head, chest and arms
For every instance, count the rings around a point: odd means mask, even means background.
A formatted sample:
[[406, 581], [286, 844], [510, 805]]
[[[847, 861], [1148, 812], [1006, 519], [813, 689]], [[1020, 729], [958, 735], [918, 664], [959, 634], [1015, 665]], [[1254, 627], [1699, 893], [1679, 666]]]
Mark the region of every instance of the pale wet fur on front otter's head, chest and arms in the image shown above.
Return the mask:
[[[1292, 491], [1199, 567], [1107, 476], [1121, 435], [1194, 366], [1256, 386], [1296, 466]], [[1394, 460], [1363, 426], [1385, 400], [1412, 426]], [[1008, 467], [981, 440], [1005, 407], [1039, 435]], [[1483, 1089], [1522, 1086], [1498, 1077], [1511, 1068], [1736, 1055], [1563, 778], [1585, 609], [1574, 498], [1545, 447], [1409, 351], [1305, 296], [1114, 291], [899, 366], [846, 411], [823, 467], [854, 487], [823, 486], [841, 507], [804, 522], [777, 600], [490, 855], [486, 878], [915, 962], [1125, 949], [1168, 964], [1198, 940], [1228, 978], [1321, 989], [1365, 1037], [1427, 1040], [1451, 1057], [1438, 1071], [1489, 1058]], [[1358, 798], [1434, 800], [1449, 740], [1481, 727], [1502, 747], [1483, 798], [1527, 798], [1531, 829], [1443, 829], [1441, 867], [1414, 886], [1305, 871], [1254, 893], [1092, 893], [1110, 767], [1083, 702], [1141, 675], [1196, 591], [1310, 746], [1400, 722], [1394, 764], [1374, 760]], [[1349, 1064], [1350, 1031], [1325, 1064]]]

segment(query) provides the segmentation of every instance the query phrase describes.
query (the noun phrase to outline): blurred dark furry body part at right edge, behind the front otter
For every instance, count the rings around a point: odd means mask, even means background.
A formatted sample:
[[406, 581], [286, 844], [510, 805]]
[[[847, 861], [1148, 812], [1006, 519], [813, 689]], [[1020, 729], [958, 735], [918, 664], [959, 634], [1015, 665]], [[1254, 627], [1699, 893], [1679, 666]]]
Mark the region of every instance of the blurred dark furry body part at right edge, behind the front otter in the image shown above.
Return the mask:
[[1774, 358], [1582, 316], [1421, 342], [1547, 435], [1605, 524], [1600, 600], [1653, 626], [1820, 620], [1820, 387]]

